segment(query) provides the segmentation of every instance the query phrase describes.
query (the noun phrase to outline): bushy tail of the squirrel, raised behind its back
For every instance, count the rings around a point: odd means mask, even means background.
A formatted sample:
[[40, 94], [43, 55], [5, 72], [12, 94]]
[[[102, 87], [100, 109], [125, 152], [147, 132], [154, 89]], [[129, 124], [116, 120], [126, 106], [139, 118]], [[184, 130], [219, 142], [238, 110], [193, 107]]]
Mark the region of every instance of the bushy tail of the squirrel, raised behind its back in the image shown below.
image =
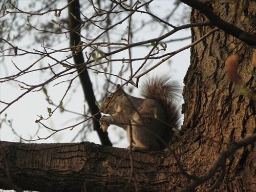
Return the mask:
[[163, 105], [167, 114], [167, 123], [170, 125], [164, 135], [164, 140], [169, 142], [174, 133], [173, 128], [180, 126], [180, 107], [178, 101], [181, 99], [181, 87], [178, 81], [171, 77], [153, 77], [148, 79], [142, 86], [142, 96], [157, 100]]

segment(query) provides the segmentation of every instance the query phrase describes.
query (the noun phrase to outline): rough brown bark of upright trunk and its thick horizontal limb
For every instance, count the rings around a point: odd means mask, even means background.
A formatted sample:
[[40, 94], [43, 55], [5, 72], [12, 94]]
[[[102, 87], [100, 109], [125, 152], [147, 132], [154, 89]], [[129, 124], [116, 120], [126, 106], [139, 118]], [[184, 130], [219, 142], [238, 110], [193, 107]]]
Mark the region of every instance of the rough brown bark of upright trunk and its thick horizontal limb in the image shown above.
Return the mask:
[[[255, 23], [251, 22], [256, 17], [255, 1], [210, 1], [207, 5], [226, 22], [255, 34]], [[206, 20], [193, 9], [192, 23]], [[191, 29], [193, 42], [213, 28]], [[252, 99], [256, 81], [250, 73], [255, 72], [252, 51], [223, 31], [215, 32], [191, 49], [191, 63], [184, 79], [182, 132], [172, 141], [175, 156], [170, 152], [135, 152], [131, 156], [124, 149], [92, 143], [2, 142], [0, 161], [6, 170], [1, 169], [1, 177], [12, 178], [9, 184], [39, 191], [195, 191], [195, 181], [201, 178], [195, 177], [204, 175], [224, 155], [217, 173], [211, 173], [214, 177], [196, 191], [206, 191], [216, 181], [216, 191], [254, 191], [256, 152], [255, 142], [251, 141], [255, 141], [256, 131]], [[245, 95], [239, 93], [240, 89], [226, 74], [225, 60], [230, 54], [239, 56], [238, 72]], [[251, 135], [252, 144], [239, 142]], [[234, 141], [238, 145], [227, 144]], [[230, 154], [233, 146], [238, 150]]]

